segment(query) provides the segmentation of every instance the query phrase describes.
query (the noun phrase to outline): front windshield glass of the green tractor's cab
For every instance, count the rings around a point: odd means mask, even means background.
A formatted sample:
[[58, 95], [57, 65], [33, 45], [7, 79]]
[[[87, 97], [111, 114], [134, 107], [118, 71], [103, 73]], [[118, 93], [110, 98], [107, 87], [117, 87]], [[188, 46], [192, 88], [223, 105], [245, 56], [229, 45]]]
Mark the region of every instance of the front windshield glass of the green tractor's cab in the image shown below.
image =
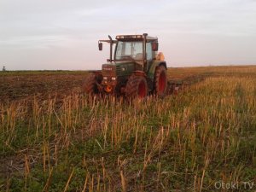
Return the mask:
[[116, 47], [115, 60], [143, 60], [143, 42], [119, 41]]

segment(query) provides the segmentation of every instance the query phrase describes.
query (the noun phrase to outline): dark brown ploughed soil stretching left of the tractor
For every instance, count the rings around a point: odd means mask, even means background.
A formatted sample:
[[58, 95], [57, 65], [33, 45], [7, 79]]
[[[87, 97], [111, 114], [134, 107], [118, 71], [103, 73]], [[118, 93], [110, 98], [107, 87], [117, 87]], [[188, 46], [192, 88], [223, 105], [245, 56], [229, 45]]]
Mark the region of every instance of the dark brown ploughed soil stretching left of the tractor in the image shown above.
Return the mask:
[[0, 102], [48, 99], [49, 96], [63, 98], [80, 93], [87, 72], [26, 72], [0, 73]]

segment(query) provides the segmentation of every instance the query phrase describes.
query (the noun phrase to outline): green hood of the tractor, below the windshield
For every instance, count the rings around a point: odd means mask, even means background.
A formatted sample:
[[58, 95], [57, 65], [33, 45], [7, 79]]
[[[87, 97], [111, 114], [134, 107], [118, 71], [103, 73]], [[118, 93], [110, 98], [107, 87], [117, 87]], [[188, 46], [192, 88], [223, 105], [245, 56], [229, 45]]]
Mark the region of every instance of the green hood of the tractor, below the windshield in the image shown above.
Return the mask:
[[140, 67], [134, 61], [119, 61], [102, 65], [102, 76], [126, 76], [131, 75], [131, 73]]

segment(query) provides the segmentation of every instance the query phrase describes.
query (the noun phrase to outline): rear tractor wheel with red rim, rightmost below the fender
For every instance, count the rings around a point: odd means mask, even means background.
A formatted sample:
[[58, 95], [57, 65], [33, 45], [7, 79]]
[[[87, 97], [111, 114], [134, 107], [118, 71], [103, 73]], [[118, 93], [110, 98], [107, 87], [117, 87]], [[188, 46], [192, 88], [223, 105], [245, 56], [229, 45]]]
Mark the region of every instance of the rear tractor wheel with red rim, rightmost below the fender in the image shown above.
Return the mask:
[[165, 96], [167, 90], [166, 67], [159, 66], [154, 72], [154, 93], [156, 96]]

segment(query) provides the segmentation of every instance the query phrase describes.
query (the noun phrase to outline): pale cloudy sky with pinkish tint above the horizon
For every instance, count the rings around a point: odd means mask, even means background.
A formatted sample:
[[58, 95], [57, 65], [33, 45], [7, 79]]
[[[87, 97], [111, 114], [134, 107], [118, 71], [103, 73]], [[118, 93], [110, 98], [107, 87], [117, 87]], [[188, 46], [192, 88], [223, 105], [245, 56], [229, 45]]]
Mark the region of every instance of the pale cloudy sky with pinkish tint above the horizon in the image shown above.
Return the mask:
[[99, 39], [144, 32], [168, 67], [256, 64], [256, 0], [0, 0], [0, 67], [100, 69]]

